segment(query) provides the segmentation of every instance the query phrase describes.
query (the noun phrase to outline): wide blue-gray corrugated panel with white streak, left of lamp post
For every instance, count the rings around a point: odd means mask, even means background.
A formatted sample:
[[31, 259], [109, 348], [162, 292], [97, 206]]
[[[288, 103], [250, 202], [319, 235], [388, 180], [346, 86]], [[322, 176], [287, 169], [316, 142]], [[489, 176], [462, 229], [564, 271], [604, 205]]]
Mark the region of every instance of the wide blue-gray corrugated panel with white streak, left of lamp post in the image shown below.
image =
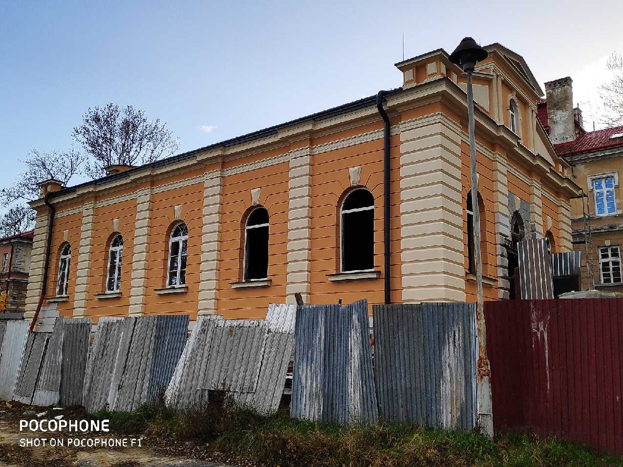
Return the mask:
[[374, 377], [387, 422], [476, 423], [473, 303], [374, 305]]

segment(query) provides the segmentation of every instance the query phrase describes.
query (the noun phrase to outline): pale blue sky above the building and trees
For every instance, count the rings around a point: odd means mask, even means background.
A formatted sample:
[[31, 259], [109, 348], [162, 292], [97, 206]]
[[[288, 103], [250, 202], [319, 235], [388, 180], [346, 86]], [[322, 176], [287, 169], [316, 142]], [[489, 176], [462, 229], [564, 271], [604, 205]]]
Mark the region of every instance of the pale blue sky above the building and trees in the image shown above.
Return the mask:
[[144, 108], [188, 151], [397, 87], [403, 32], [406, 58], [500, 42], [591, 100], [604, 57], [623, 52], [622, 16], [614, 0], [2, 0], [0, 187], [29, 149], [69, 148], [89, 106]]

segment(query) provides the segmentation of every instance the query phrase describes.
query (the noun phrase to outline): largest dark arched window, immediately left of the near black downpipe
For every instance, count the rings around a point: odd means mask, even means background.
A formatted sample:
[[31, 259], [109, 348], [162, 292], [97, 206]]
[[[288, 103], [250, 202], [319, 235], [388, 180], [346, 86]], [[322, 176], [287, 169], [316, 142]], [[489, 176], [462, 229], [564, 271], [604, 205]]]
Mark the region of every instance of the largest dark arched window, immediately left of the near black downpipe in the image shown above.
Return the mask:
[[342, 203], [340, 244], [342, 272], [374, 269], [374, 197], [364, 188]]

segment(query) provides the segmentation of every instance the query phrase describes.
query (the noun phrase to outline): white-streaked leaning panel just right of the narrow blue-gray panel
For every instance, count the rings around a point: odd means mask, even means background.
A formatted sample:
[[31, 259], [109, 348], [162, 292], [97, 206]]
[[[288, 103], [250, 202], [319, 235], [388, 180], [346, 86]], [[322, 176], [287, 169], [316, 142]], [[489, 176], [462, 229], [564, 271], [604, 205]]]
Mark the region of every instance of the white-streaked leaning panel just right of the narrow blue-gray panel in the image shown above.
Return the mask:
[[165, 400], [169, 405], [189, 408], [201, 400], [199, 388], [204, 381], [212, 334], [216, 321], [221, 320], [222, 316], [214, 314], [197, 316], [193, 333], [184, 346], [166, 390]]

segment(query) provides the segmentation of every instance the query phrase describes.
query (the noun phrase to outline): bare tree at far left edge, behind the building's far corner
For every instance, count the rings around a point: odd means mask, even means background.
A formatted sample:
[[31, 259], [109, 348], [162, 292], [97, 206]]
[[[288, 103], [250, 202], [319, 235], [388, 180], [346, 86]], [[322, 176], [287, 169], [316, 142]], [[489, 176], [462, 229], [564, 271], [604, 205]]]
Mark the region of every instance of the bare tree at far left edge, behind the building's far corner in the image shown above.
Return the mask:
[[53, 178], [67, 185], [84, 161], [85, 156], [74, 148], [62, 153], [32, 149], [21, 161], [26, 170], [16, 177], [11, 186], [0, 191], [0, 206], [7, 209], [0, 218], [3, 236], [26, 232], [34, 227], [35, 212], [26, 202], [39, 197], [39, 182]]

